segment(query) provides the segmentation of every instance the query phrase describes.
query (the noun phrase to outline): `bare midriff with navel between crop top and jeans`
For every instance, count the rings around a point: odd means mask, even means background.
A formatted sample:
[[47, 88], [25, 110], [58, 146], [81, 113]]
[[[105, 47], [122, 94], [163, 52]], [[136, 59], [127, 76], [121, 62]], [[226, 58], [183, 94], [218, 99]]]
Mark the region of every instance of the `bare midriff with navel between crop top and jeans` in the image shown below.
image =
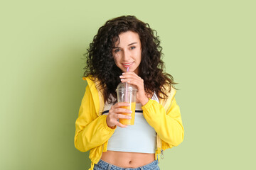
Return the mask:
[[154, 162], [155, 154], [107, 151], [102, 153], [102, 161], [122, 168], [138, 168]]

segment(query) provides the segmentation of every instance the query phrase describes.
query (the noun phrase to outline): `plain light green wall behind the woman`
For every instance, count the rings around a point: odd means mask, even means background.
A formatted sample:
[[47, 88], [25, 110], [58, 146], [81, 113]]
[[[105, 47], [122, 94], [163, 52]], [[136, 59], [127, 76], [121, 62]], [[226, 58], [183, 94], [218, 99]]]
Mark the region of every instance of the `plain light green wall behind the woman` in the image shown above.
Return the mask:
[[255, 1], [1, 1], [0, 169], [88, 169], [73, 144], [83, 54], [105, 21], [158, 31], [184, 141], [161, 169], [255, 169]]

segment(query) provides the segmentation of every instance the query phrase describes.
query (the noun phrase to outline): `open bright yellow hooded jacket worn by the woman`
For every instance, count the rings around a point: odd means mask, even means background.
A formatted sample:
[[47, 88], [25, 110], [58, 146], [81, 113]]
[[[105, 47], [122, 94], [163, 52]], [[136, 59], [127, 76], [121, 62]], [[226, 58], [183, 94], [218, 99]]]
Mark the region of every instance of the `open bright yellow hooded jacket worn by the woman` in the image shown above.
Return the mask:
[[[92, 81], [90, 77], [84, 79], [87, 86], [75, 122], [75, 147], [81, 152], [90, 150], [92, 170], [94, 164], [100, 161], [102, 152], [107, 152], [107, 142], [115, 129], [107, 126], [107, 115], [102, 115], [105, 103], [101, 91], [97, 90], [97, 81]], [[156, 157], [163, 150], [178, 146], [183, 141], [184, 130], [175, 94], [176, 90], [171, 87], [168, 98], [159, 98], [159, 103], [149, 99], [142, 106], [144, 118], [157, 133]]]

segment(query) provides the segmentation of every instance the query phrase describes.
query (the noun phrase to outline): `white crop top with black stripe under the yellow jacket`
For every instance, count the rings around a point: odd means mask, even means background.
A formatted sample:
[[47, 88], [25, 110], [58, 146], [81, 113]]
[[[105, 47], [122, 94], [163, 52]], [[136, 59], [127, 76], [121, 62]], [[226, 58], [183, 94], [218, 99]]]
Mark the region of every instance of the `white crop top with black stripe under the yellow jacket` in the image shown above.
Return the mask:
[[[156, 94], [151, 98], [159, 102]], [[111, 104], [105, 103], [102, 114], [108, 114]], [[114, 134], [110, 137], [107, 150], [119, 152], [141, 152], [154, 154], [156, 151], [156, 131], [146, 122], [142, 105], [136, 103], [134, 125], [127, 125], [127, 128], [117, 126]]]

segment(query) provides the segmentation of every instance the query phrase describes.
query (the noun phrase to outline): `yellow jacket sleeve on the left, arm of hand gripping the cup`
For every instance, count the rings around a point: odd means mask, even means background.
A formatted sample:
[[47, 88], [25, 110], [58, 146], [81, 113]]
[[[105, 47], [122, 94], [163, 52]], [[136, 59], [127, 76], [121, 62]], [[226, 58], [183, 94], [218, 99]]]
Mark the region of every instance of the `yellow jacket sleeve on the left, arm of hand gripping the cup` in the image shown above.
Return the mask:
[[106, 122], [107, 115], [97, 116], [95, 103], [89, 85], [86, 87], [85, 96], [75, 122], [75, 147], [81, 152], [100, 146], [107, 142], [114, 133]]

